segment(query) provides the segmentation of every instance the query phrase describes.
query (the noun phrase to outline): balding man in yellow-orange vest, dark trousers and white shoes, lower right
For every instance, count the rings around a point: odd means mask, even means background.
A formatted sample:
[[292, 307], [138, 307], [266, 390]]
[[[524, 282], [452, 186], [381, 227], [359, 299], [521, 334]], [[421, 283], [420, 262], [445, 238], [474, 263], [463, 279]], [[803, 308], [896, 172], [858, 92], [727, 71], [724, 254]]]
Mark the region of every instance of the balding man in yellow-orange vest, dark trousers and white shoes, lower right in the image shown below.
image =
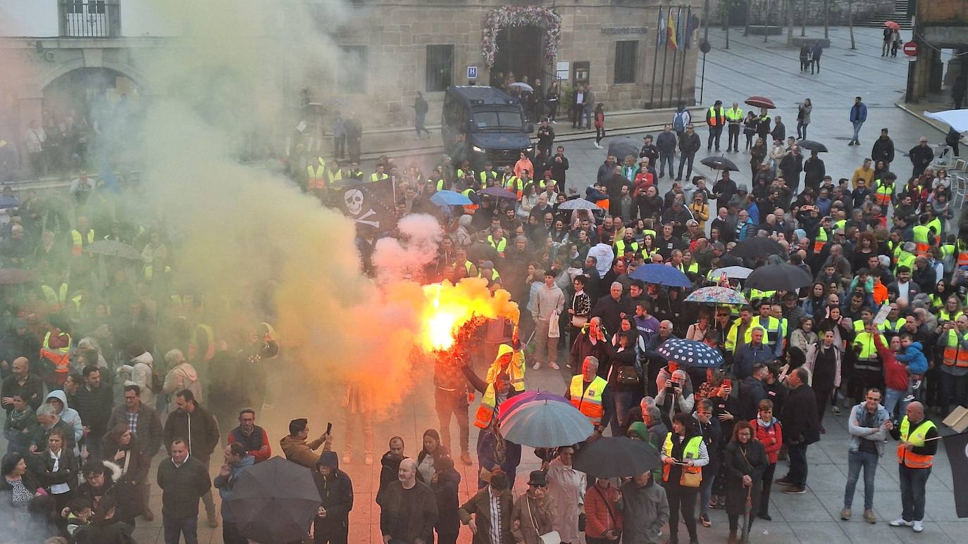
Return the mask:
[[938, 428], [924, 417], [920, 402], [908, 405], [907, 415], [900, 425], [891, 430], [897, 444], [897, 470], [901, 484], [901, 517], [891, 527], [910, 527], [915, 532], [924, 530], [924, 487], [931, 475], [934, 454], [938, 451]]

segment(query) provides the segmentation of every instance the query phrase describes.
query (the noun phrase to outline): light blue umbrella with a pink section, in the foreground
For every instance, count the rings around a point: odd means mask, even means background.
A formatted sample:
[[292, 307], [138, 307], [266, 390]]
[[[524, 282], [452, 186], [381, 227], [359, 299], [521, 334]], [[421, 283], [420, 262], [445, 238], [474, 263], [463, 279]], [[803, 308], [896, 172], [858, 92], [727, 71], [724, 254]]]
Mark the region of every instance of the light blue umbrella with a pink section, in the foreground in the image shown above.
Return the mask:
[[539, 400], [521, 405], [500, 423], [500, 434], [514, 444], [558, 447], [578, 444], [591, 436], [589, 418], [570, 402]]

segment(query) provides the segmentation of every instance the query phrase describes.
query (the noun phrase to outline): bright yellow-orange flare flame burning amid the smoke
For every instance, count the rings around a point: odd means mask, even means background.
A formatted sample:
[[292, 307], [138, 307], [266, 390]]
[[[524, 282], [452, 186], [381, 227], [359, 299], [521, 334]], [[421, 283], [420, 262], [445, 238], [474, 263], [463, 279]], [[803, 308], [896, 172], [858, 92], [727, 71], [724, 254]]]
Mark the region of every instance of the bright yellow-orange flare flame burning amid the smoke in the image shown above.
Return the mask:
[[517, 324], [520, 310], [511, 295], [499, 289], [492, 296], [487, 280], [464, 278], [457, 285], [444, 281], [423, 287], [429, 302], [423, 312], [419, 345], [426, 352], [449, 350], [458, 331], [474, 318], [506, 318]]

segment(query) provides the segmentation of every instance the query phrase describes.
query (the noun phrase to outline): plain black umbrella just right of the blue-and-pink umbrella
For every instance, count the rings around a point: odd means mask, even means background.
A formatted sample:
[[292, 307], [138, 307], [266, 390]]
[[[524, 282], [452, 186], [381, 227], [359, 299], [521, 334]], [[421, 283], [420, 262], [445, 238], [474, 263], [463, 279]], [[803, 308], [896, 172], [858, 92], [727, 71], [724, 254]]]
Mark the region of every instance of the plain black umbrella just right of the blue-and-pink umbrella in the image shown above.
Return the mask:
[[600, 438], [575, 452], [576, 471], [603, 477], [637, 476], [662, 464], [658, 451], [641, 440], [627, 437]]

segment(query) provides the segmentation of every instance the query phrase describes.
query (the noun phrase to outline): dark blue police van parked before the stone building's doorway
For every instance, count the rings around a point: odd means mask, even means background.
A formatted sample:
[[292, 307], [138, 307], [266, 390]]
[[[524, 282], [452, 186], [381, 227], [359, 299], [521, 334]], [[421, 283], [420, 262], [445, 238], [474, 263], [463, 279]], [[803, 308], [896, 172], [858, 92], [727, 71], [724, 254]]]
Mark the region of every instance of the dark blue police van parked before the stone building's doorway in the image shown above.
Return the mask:
[[448, 87], [440, 127], [443, 147], [455, 165], [467, 159], [479, 172], [491, 161], [499, 170], [517, 162], [522, 151], [533, 157], [529, 134], [534, 125], [526, 121], [518, 100], [494, 87]]

